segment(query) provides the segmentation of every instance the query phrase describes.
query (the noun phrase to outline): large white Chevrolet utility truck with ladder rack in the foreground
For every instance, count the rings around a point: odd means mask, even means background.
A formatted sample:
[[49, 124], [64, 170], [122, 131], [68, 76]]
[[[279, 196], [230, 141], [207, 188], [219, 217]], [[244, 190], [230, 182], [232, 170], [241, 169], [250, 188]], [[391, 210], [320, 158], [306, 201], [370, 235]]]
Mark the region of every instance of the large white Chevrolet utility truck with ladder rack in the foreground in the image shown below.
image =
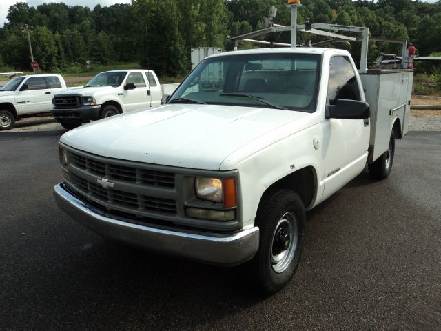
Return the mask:
[[[214, 69], [218, 83], [205, 84]], [[305, 210], [365, 165], [388, 176], [407, 133], [412, 74], [358, 72], [335, 48], [207, 57], [163, 106], [63, 134], [56, 201], [104, 237], [243, 265], [247, 282], [276, 292], [298, 264]]]

